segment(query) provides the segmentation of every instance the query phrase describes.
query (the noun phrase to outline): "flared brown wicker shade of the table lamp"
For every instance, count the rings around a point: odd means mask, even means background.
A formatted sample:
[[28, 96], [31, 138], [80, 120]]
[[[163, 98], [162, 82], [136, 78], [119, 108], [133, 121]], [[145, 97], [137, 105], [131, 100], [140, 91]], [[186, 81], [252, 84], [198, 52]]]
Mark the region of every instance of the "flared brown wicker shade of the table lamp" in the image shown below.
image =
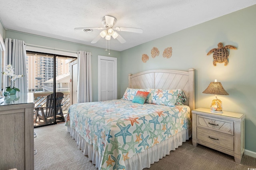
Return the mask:
[[203, 91], [205, 94], [229, 95], [220, 82], [211, 82]]

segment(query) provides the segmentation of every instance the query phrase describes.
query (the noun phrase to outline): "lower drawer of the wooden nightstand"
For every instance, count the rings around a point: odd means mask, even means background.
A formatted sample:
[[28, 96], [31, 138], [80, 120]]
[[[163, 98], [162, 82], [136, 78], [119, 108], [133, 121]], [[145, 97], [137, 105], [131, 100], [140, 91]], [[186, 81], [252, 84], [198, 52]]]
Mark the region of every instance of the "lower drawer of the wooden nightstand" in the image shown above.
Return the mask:
[[197, 128], [197, 139], [222, 147], [229, 150], [234, 150], [234, 137], [222, 133], [209, 131], [202, 128]]

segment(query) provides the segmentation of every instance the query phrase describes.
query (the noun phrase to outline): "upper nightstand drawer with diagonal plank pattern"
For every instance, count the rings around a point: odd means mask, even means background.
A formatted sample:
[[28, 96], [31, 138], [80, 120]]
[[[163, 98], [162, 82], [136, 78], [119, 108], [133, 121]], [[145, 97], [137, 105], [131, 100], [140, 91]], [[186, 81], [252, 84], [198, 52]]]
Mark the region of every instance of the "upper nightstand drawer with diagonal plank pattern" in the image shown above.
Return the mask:
[[210, 116], [197, 115], [197, 127], [203, 127], [213, 131], [234, 135], [233, 121], [226, 121]]

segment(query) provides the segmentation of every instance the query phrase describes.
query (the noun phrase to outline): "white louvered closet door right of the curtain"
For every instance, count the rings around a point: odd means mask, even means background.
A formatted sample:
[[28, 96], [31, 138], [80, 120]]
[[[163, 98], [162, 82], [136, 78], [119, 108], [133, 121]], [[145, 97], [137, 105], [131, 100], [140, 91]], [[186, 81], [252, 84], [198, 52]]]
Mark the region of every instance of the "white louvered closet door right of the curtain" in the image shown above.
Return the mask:
[[102, 57], [98, 60], [98, 101], [114, 100], [117, 98], [115, 61], [116, 58]]

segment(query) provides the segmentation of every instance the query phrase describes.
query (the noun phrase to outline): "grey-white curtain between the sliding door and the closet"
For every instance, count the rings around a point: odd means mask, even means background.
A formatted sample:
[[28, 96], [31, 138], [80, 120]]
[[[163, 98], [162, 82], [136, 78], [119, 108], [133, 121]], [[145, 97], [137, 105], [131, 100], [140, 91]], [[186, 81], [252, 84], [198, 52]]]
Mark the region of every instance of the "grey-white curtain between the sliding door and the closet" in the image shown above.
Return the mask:
[[78, 103], [92, 102], [91, 53], [78, 53]]

